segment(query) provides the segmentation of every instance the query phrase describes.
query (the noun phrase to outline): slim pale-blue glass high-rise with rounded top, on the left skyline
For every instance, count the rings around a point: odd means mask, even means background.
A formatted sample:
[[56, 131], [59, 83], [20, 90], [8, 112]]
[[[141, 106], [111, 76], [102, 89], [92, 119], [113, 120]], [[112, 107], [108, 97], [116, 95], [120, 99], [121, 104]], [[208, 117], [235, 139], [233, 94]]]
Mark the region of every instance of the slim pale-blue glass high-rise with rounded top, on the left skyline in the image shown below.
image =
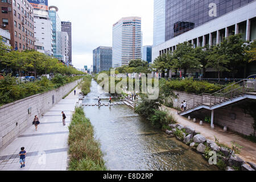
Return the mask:
[[59, 9], [56, 6], [49, 7], [49, 19], [52, 22], [52, 44], [53, 44], [53, 56], [59, 60], [63, 60], [61, 55], [61, 21], [57, 14]]

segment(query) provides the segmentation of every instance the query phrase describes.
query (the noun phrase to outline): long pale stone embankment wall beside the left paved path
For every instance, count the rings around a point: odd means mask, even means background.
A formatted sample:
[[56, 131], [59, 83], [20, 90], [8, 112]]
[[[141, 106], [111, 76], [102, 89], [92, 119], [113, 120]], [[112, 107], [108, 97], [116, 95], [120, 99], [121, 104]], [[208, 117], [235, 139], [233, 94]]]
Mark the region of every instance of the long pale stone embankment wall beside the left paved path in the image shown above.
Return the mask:
[[59, 102], [82, 79], [71, 82], [49, 92], [36, 94], [0, 107], [0, 149], [6, 147], [28, 126], [32, 125], [35, 115], [40, 118], [53, 105]]

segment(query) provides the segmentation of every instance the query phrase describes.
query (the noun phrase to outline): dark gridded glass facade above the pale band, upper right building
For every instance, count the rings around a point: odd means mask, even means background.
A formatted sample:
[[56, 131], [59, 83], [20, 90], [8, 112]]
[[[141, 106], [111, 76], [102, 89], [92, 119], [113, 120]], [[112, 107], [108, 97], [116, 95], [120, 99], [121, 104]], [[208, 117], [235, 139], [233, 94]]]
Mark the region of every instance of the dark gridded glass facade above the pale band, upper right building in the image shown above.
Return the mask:
[[165, 40], [170, 40], [253, 1], [166, 0]]

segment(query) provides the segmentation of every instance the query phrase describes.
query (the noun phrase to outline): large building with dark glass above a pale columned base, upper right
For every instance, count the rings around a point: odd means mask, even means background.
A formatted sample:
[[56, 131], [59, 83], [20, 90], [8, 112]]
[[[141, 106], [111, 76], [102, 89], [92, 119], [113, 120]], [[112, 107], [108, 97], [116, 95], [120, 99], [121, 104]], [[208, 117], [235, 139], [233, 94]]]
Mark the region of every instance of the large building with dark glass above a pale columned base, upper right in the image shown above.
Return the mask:
[[[154, 44], [153, 60], [186, 41], [193, 47], [203, 47], [220, 44], [234, 34], [242, 34], [243, 40], [256, 39], [255, 0], [155, 0], [156, 3], [165, 6], [165, 21], [154, 24], [154, 36], [162, 35], [164, 25], [165, 42]], [[154, 19], [161, 12], [155, 7]]]

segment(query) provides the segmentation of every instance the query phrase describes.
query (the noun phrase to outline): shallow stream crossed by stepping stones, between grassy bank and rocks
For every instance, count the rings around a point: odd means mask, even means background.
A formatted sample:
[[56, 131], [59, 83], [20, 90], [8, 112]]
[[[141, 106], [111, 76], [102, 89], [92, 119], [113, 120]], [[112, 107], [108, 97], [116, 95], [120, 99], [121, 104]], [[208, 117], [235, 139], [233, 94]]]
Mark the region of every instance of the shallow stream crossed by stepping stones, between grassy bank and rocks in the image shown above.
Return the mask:
[[[98, 91], [98, 87], [92, 80], [91, 91], [82, 103], [96, 104], [98, 96], [102, 104], [108, 103], [109, 94]], [[217, 170], [202, 155], [168, 138], [126, 105], [86, 106], [84, 111], [110, 170]]]

